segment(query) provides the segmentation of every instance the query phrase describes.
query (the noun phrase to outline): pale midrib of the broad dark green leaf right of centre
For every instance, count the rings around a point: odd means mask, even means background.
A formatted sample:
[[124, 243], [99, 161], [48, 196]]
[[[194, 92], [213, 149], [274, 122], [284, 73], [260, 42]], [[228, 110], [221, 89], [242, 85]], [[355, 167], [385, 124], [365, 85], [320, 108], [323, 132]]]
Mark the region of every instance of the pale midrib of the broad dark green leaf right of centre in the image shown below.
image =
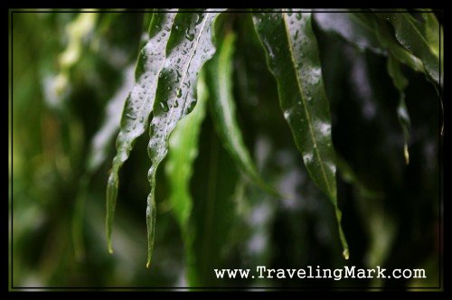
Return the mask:
[[301, 99], [303, 101], [303, 108], [305, 110], [305, 115], [306, 115], [306, 118], [307, 118], [307, 125], [309, 127], [309, 133], [310, 133], [311, 139], [312, 139], [313, 144], [314, 144], [315, 155], [317, 156], [318, 160], [320, 161], [320, 168], [321, 168], [322, 174], [324, 176], [326, 189], [328, 190], [328, 192], [330, 193], [330, 196], [331, 196], [331, 195], [333, 195], [333, 192], [331, 191], [330, 184], [328, 183], [328, 179], [326, 177], [326, 173], [325, 173], [325, 168], [324, 168], [324, 164], [323, 164], [323, 161], [322, 161], [322, 157], [320, 156], [320, 153], [319, 153], [318, 148], [317, 148], [317, 142], [316, 142], [316, 139], [315, 139], [314, 129], [313, 129], [312, 124], [311, 124], [312, 123], [311, 117], [309, 115], [309, 112], [307, 111], [305, 92], [303, 91], [303, 88], [301, 86], [301, 80], [299, 78], [297, 69], [295, 68], [296, 62], [295, 62], [295, 56], [294, 56], [294, 49], [293, 49], [293, 45], [292, 45], [292, 40], [290, 39], [290, 34], [288, 32], [287, 16], [286, 16], [286, 13], [281, 13], [281, 14], [283, 16], [284, 29], [286, 31], [287, 43], [288, 43], [288, 48], [289, 48], [289, 52], [290, 52], [290, 60], [292, 61], [292, 66], [294, 67], [294, 71], [295, 71], [295, 74], [296, 74], [296, 77], [297, 77], [297, 86], [298, 86], [298, 90], [300, 91], [300, 94], [301, 94]]

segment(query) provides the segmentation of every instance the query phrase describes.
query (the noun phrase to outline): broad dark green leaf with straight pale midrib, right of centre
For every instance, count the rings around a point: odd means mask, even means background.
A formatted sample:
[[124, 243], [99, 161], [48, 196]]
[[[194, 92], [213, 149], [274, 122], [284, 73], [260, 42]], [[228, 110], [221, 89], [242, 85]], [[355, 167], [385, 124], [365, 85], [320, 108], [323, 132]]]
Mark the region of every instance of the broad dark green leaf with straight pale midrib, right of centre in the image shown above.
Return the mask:
[[334, 204], [347, 259], [348, 245], [337, 207], [331, 117], [311, 13], [256, 13], [253, 21], [267, 51], [268, 66], [278, 81], [279, 103], [306, 169]]

